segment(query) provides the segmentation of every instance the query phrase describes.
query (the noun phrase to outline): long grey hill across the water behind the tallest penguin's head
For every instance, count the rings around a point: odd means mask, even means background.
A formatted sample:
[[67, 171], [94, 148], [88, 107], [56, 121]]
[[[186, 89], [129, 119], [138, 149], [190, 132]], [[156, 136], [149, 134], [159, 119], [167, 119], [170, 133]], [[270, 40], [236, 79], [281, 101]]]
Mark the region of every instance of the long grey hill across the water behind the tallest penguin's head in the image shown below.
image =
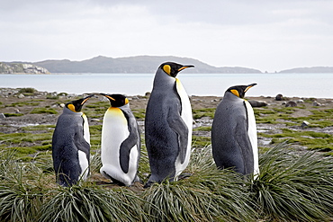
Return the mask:
[[45, 67], [51, 73], [155, 73], [163, 62], [173, 61], [183, 65], [194, 65], [187, 73], [261, 73], [246, 67], [212, 67], [197, 59], [178, 57], [138, 56], [128, 58], [95, 57], [83, 61], [45, 60], [31, 63]]

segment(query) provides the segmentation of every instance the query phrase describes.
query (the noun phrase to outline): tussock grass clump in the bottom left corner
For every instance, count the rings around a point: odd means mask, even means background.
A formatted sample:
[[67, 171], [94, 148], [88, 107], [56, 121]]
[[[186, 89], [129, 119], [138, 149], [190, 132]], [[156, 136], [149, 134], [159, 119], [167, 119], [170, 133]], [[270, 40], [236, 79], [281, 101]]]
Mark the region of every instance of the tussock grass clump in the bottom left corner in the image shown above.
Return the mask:
[[48, 192], [42, 171], [0, 152], [0, 221], [35, 221]]

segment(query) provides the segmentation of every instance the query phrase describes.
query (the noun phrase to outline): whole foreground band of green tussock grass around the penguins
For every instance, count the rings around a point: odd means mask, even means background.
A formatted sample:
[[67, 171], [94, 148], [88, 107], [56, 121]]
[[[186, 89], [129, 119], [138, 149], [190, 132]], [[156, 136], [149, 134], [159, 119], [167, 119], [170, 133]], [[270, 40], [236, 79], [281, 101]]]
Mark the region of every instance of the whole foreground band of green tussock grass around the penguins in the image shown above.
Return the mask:
[[[145, 149], [143, 148], [143, 151]], [[140, 169], [148, 169], [144, 155]], [[43, 166], [43, 161], [45, 165]], [[280, 144], [259, 158], [256, 180], [218, 170], [211, 146], [193, 149], [178, 182], [135, 191], [93, 180], [55, 183], [49, 158], [24, 163], [0, 151], [0, 221], [330, 221], [333, 158]], [[92, 160], [98, 171], [99, 155]]]

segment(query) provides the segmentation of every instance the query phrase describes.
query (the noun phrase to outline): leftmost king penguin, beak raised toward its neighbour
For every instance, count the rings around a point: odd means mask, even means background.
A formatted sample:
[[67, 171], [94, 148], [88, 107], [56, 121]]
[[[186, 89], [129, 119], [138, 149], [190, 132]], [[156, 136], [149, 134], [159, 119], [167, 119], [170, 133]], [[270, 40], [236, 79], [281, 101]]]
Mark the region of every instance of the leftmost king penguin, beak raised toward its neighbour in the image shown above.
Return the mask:
[[94, 94], [67, 102], [58, 117], [52, 136], [52, 159], [57, 182], [71, 186], [89, 175], [90, 133], [88, 120], [81, 109]]

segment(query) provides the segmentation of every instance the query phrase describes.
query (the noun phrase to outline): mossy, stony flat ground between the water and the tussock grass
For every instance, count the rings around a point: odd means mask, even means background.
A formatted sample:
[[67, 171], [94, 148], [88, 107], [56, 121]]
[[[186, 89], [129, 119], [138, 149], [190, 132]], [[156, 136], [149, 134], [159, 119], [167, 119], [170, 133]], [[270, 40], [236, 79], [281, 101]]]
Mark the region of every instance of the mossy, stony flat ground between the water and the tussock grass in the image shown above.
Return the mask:
[[[26, 91], [26, 90], [25, 90]], [[75, 94], [57, 94], [48, 92], [32, 92], [26, 93], [20, 89], [0, 89], [0, 134], [13, 134], [27, 132], [26, 127], [49, 126], [54, 128], [59, 114], [62, 112], [64, 103], [69, 100], [75, 100], [78, 96]], [[141, 131], [143, 129], [144, 110], [148, 102], [148, 95], [128, 96], [130, 99], [130, 108], [137, 114]], [[193, 107], [193, 136], [198, 138], [207, 138], [207, 145], [210, 138], [210, 127], [214, 109], [220, 102], [221, 97], [216, 96], [191, 96]], [[270, 147], [274, 135], [281, 134], [284, 129], [291, 129], [294, 132], [313, 131], [324, 133], [327, 138], [333, 137], [332, 109], [333, 99], [315, 99], [315, 98], [282, 98], [282, 101], [276, 101], [273, 97], [250, 97], [248, 101], [263, 102], [263, 107], [255, 107], [257, 117], [258, 145], [259, 147]], [[290, 103], [296, 107], [288, 108], [286, 103]], [[90, 106], [89, 106], [90, 104]], [[86, 102], [84, 111], [87, 114], [90, 125], [101, 125], [103, 122], [103, 112], [108, 107], [108, 102], [101, 95], [96, 96]], [[324, 111], [322, 117], [313, 119], [315, 115], [319, 115], [319, 111]], [[141, 113], [141, 116], [139, 116]], [[199, 114], [195, 114], [199, 113]], [[279, 114], [280, 113], [280, 114]], [[317, 113], [317, 114], [316, 114]], [[325, 113], [327, 115], [325, 116]], [[272, 120], [268, 120], [272, 117]], [[288, 118], [286, 118], [288, 117]], [[309, 119], [307, 119], [309, 118]], [[320, 126], [320, 120], [332, 122], [324, 127]], [[304, 122], [305, 121], [305, 122]], [[311, 123], [314, 122], [314, 124]], [[302, 123], [308, 123], [310, 126], [302, 126]], [[311, 125], [312, 124], [312, 125]], [[204, 128], [206, 127], [206, 128]], [[41, 133], [45, 129], [30, 130], [30, 133]], [[272, 135], [269, 137], [267, 135]], [[330, 136], [329, 136], [330, 135]], [[284, 136], [281, 136], [284, 138]], [[309, 137], [309, 136], [304, 136]], [[325, 138], [324, 137], [324, 138]], [[12, 146], [13, 143], [8, 141], [0, 141], [2, 146]], [[14, 145], [13, 145], [14, 146]], [[15, 145], [17, 146], [17, 145]], [[20, 146], [30, 146], [29, 143], [21, 143]], [[296, 141], [295, 147], [304, 149], [302, 143]], [[332, 142], [328, 142], [329, 149], [333, 147]]]

